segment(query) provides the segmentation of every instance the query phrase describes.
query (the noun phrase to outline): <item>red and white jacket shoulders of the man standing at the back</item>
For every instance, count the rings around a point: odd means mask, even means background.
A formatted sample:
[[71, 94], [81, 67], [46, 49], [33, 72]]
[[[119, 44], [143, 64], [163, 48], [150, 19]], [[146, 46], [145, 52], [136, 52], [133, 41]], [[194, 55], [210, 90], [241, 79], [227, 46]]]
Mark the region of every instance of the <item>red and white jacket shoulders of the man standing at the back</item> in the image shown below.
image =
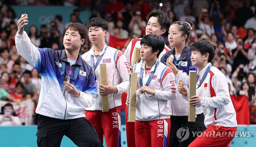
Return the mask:
[[[124, 51], [124, 55], [127, 59], [127, 62], [128, 62], [128, 65], [129, 66], [133, 66], [131, 65], [132, 61], [133, 61], [133, 57], [134, 57], [134, 48], [137, 47], [137, 48], [141, 48], [141, 45], [140, 45], [140, 40], [141, 38], [138, 38], [138, 39], [132, 39], [128, 46], [126, 47], [126, 50]], [[160, 61], [162, 56], [165, 54], [165, 53], [168, 53], [170, 51], [170, 49], [164, 45], [164, 50], [160, 53], [159, 57], [158, 57], [158, 60]], [[140, 60], [140, 62], [142, 62], [142, 60]]]

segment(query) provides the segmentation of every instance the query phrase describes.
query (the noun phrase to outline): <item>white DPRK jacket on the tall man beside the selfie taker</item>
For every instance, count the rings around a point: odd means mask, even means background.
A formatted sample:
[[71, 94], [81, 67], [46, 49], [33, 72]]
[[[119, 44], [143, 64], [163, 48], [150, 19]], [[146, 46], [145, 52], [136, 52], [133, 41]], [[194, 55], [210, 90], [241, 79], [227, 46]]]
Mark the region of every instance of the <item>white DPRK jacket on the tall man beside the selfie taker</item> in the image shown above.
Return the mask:
[[[103, 47], [103, 50], [100, 53], [100, 55], [104, 53], [106, 46], [107, 44], [105, 44], [105, 46]], [[94, 55], [93, 47], [88, 52], [84, 53], [82, 55], [82, 58], [86, 61], [86, 63], [91, 65], [91, 55], [93, 55], [93, 65], [95, 66], [97, 59]], [[128, 66], [128, 63], [123, 52], [110, 46], [107, 47], [106, 52], [102, 56], [102, 59], [100, 60], [100, 64], [101, 63], [106, 63], [107, 65], [107, 83], [110, 83], [111, 85], [115, 86], [118, 90], [117, 94], [108, 95], [109, 109], [115, 108], [117, 106], [122, 105], [121, 94], [128, 91], [129, 89], [130, 68]], [[85, 108], [85, 110], [102, 110], [101, 95], [99, 92], [100, 65], [97, 66], [94, 72], [97, 78], [97, 96], [94, 105], [92, 107]]]

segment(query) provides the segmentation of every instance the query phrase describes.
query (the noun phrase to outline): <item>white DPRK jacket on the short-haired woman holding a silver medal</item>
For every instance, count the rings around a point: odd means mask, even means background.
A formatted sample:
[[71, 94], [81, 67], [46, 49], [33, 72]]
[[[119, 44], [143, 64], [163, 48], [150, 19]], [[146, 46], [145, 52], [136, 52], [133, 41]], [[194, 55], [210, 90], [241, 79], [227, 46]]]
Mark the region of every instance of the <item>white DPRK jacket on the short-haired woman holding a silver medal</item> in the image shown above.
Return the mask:
[[[149, 75], [155, 70], [155, 65], [147, 74], [145, 74], [145, 61], [133, 66], [133, 72], [138, 73], [138, 89], [140, 88], [140, 70], [143, 70], [142, 83], [145, 86]], [[154, 89], [156, 94], [152, 95], [145, 92], [142, 98], [137, 97], [136, 120], [151, 121], [170, 118], [168, 100], [176, 99], [175, 78], [172, 69], [159, 62], [148, 87]]]

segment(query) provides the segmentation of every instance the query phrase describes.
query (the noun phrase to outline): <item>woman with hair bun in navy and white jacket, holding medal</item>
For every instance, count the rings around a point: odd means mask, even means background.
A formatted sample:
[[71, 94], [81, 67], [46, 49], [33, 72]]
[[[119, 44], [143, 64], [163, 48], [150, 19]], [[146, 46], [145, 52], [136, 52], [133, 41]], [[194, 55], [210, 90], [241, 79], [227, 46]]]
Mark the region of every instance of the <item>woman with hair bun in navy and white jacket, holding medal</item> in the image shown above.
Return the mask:
[[[192, 30], [192, 22], [189, 20], [176, 21], [169, 28], [168, 41], [173, 50], [164, 54], [161, 62], [172, 68], [175, 75], [176, 84], [186, 85], [188, 83], [188, 72], [196, 71], [196, 67], [192, 66], [187, 45], [190, 32]], [[182, 87], [182, 86], [181, 86]], [[177, 89], [178, 90], [178, 89]], [[171, 132], [169, 137], [169, 146], [188, 146], [195, 138], [192, 131], [204, 131], [204, 114], [202, 108], [196, 108], [196, 122], [188, 122], [188, 101], [177, 91], [176, 100], [169, 101], [171, 108]], [[178, 129], [188, 127], [189, 137], [180, 141], [177, 137]]]

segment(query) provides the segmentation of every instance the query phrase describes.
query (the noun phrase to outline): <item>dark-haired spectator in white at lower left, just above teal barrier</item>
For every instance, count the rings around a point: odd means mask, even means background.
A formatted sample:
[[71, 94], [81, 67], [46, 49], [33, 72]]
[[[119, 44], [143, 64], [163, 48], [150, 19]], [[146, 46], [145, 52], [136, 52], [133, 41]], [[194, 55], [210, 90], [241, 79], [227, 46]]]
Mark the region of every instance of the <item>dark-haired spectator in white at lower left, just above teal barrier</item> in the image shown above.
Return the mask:
[[13, 106], [10, 103], [4, 105], [2, 114], [0, 114], [0, 126], [19, 126], [20, 118], [15, 114]]

